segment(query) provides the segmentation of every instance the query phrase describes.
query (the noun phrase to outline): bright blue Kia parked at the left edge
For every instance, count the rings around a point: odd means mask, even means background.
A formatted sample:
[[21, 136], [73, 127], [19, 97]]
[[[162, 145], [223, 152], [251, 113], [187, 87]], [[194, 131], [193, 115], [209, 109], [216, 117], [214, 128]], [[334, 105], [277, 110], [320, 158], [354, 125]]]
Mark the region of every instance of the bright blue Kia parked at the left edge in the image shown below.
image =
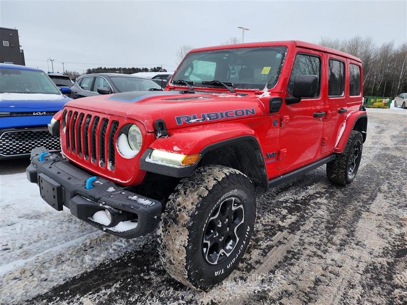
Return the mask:
[[29, 156], [44, 146], [60, 150], [60, 137], [49, 134], [52, 116], [71, 99], [42, 70], [0, 64], [0, 159]]

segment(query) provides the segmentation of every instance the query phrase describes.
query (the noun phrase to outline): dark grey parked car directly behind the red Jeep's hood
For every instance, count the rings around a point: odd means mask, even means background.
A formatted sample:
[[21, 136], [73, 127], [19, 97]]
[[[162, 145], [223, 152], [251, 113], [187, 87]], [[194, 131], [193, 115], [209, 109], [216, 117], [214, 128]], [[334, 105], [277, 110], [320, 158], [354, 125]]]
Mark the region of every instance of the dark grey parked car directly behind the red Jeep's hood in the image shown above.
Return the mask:
[[78, 77], [71, 90], [71, 98], [79, 99], [99, 94], [161, 90], [161, 86], [150, 79], [128, 74], [94, 73]]

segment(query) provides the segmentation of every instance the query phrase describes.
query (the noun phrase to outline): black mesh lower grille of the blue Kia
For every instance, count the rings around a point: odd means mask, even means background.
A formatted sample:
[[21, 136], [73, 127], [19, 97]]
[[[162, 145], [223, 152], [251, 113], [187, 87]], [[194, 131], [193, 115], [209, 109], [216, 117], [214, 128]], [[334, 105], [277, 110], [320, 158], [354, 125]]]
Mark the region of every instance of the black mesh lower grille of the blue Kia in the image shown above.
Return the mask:
[[51, 135], [44, 128], [11, 130], [0, 135], [0, 155], [4, 157], [30, 155], [31, 150], [39, 146], [59, 150], [60, 137]]

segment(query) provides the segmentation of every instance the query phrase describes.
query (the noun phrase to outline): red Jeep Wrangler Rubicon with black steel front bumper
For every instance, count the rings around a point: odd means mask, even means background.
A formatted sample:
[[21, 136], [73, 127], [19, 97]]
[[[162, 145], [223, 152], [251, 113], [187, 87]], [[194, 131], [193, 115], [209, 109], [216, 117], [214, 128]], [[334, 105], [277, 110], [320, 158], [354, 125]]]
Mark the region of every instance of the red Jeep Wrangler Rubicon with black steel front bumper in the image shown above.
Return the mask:
[[164, 91], [68, 102], [61, 154], [27, 177], [56, 210], [124, 238], [158, 227], [170, 275], [208, 289], [245, 253], [256, 191], [327, 164], [355, 178], [366, 139], [360, 59], [301, 41], [194, 49]]

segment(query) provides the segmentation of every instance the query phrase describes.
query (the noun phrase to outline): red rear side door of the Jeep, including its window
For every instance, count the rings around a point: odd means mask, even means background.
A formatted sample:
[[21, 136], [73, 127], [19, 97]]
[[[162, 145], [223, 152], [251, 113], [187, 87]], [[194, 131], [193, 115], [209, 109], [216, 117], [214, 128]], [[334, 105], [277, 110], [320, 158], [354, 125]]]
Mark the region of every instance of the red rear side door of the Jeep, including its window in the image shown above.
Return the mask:
[[346, 58], [327, 54], [326, 60], [328, 90], [325, 93], [324, 133], [321, 154], [333, 151], [338, 131], [346, 118], [346, 98], [348, 92], [348, 73]]

